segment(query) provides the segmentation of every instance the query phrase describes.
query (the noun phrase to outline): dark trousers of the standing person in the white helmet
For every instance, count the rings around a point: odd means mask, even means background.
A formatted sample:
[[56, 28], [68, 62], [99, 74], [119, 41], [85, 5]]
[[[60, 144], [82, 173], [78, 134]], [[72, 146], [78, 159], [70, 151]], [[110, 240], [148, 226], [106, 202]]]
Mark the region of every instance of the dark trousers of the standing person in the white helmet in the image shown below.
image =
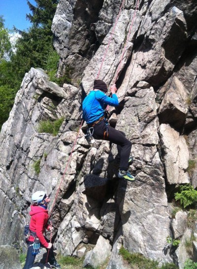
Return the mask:
[[[48, 240], [47, 240], [48, 241]], [[30, 269], [33, 267], [34, 264], [34, 260], [35, 260], [35, 256], [32, 254], [33, 251], [33, 242], [28, 242], [28, 253], [27, 253], [27, 257], [26, 257], [26, 262], [25, 262], [25, 266], [23, 269]], [[41, 247], [44, 247], [41, 245]], [[49, 255], [48, 255], [48, 261], [50, 264], [53, 264], [55, 262], [55, 256], [53, 253], [53, 246], [51, 248], [46, 248], [47, 253], [49, 250]]]

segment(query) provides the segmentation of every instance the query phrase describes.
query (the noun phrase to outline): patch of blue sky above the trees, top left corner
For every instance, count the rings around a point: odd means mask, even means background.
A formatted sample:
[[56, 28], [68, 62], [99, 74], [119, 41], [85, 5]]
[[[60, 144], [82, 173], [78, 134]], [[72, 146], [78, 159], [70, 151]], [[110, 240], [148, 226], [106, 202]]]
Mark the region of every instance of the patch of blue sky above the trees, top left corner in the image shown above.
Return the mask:
[[[34, 0], [30, 2], [35, 5]], [[30, 22], [26, 20], [27, 13], [30, 13], [27, 0], [0, 0], [0, 15], [3, 15], [8, 29], [12, 29], [13, 25], [19, 30], [30, 27]]]

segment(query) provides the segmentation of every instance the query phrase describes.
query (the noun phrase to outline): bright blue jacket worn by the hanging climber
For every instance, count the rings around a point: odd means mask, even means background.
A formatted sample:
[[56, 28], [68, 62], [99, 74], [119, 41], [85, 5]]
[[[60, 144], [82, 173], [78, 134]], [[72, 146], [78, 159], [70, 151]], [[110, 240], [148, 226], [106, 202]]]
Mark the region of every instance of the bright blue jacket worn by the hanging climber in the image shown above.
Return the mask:
[[108, 97], [102, 91], [91, 91], [82, 103], [83, 119], [87, 124], [93, 123], [104, 115], [105, 105], [116, 107], [118, 104], [115, 93]]

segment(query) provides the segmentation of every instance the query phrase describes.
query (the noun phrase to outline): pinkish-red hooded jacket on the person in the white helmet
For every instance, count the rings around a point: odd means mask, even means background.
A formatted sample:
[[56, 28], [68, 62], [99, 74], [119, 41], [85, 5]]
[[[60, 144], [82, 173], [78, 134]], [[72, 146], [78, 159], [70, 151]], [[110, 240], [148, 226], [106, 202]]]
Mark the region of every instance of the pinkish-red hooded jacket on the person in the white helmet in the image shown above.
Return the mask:
[[[31, 205], [30, 216], [30, 230], [36, 232], [40, 243], [47, 248], [49, 243], [47, 243], [46, 239], [44, 238], [43, 232], [45, 229], [49, 230], [50, 227], [50, 225], [47, 224], [49, 219], [48, 209], [44, 209], [39, 205]], [[29, 240], [33, 242], [34, 237], [31, 235]]]

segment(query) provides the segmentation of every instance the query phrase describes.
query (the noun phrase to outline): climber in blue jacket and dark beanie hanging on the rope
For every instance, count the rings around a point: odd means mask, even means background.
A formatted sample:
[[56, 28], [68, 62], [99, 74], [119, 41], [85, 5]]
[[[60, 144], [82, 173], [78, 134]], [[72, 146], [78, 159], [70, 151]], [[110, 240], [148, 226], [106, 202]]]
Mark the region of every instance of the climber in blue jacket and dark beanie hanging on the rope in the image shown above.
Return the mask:
[[83, 119], [88, 128], [94, 127], [93, 137], [95, 139], [107, 140], [117, 145], [120, 157], [118, 177], [133, 182], [135, 178], [128, 171], [132, 144], [123, 132], [109, 126], [104, 118], [106, 105], [116, 107], [119, 104], [115, 84], [111, 86], [110, 91], [111, 97], [108, 97], [106, 83], [100, 79], [94, 81], [94, 90], [90, 91], [82, 103]]

